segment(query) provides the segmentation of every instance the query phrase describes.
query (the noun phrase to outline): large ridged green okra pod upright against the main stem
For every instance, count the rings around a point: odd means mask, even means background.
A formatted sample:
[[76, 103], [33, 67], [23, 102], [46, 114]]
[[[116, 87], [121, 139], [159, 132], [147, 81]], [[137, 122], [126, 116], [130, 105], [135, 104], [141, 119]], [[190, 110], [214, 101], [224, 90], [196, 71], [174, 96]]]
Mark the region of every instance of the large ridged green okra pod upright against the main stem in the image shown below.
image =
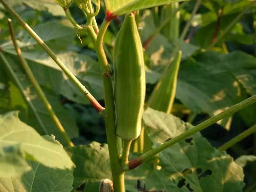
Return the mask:
[[140, 135], [146, 92], [142, 44], [133, 13], [125, 16], [114, 47], [116, 134], [132, 140]]

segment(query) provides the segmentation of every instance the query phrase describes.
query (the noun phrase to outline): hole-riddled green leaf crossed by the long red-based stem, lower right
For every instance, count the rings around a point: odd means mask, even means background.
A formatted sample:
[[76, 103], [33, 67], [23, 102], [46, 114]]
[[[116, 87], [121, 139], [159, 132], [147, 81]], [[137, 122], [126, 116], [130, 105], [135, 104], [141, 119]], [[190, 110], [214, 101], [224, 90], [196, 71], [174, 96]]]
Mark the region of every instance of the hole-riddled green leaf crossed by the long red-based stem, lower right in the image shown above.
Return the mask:
[[[148, 108], [143, 115], [153, 148], [192, 127], [178, 117]], [[126, 173], [126, 189], [137, 192], [138, 181], [146, 190], [239, 192], [244, 186], [243, 169], [226, 152], [220, 152], [198, 132], [158, 154], [150, 162]]]

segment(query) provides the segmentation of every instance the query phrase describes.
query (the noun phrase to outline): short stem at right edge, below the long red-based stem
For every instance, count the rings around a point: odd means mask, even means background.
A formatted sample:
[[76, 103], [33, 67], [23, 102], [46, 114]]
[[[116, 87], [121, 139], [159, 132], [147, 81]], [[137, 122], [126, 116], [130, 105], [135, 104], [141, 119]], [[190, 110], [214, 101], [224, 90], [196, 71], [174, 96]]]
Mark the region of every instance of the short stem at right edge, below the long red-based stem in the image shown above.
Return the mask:
[[250, 127], [249, 129], [245, 130], [244, 132], [240, 133], [239, 135], [237, 135], [233, 139], [229, 140], [228, 142], [226, 142], [225, 144], [220, 146], [218, 149], [220, 151], [226, 151], [228, 148], [235, 145], [239, 141], [243, 140], [245, 137], [249, 136], [253, 132], [256, 132], [256, 124], [253, 125], [252, 127]]

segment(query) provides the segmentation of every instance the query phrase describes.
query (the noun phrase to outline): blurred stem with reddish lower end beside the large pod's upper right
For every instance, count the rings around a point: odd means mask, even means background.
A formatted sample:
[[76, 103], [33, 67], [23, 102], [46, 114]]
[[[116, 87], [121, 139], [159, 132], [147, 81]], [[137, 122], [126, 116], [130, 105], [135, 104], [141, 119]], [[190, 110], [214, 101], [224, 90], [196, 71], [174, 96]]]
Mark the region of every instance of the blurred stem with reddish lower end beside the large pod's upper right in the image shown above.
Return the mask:
[[164, 26], [173, 18], [173, 16], [180, 11], [185, 5], [188, 4], [188, 1], [183, 2], [180, 4], [180, 6], [175, 9], [173, 12], [171, 12], [170, 16], [168, 16], [152, 33], [151, 36], [149, 36], [144, 42], [143, 42], [143, 48], [146, 49], [148, 44], [153, 40], [153, 38], [164, 28]]

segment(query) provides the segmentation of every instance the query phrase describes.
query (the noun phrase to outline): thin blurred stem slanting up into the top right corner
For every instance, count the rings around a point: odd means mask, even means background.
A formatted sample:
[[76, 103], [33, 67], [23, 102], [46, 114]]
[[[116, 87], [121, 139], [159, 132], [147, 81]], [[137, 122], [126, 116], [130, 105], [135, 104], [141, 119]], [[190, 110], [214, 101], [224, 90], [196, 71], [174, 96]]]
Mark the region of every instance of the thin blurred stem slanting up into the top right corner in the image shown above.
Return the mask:
[[224, 29], [224, 31], [223, 31], [222, 33], [220, 33], [219, 36], [217, 36], [217, 38], [215, 39], [215, 41], [212, 42], [212, 44], [210, 44], [207, 49], [211, 49], [215, 44], [217, 44], [217, 43], [223, 38], [223, 36], [225, 36], [225, 35], [229, 32], [229, 30], [230, 30], [231, 28], [233, 28], [234, 25], [236, 24], [236, 22], [239, 21], [239, 20], [241, 19], [241, 17], [244, 15], [244, 13], [247, 11], [247, 9], [249, 9], [250, 7], [252, 7], [252, 4], [253, 4], [253, 3], [255, 3], [255, 1], [252, 1], [250, 4], [248, 4], [248, 5], [244, 8], [244, 10], [243, 10], [242, 12], [240, 12], [240, 13], [236, 16], [236, 18], [235, 18], [231, 23], [228, 24], [228, 26]]

